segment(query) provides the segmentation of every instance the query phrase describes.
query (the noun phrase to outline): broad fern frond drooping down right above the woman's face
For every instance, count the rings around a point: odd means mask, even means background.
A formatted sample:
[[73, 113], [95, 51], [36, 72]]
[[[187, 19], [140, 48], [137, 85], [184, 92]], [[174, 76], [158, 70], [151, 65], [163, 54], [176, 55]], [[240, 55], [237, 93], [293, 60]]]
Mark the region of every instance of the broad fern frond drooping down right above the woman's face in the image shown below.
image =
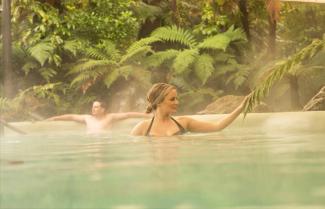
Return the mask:
[[196, 57], [199, 55], [197, 49], [185, 49], [181, 51], [173, 62], [173, 69], [176, 74], [182, 74], [189, 66], [195, 61]]

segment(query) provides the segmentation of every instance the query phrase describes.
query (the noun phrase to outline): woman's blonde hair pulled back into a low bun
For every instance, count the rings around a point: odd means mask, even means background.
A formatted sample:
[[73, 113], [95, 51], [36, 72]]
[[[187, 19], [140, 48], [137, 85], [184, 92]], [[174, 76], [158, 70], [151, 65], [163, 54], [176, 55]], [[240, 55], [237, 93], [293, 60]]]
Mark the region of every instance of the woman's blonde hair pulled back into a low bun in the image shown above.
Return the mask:
[[175, 86], [167, 83], [156, 83], [147, 93], [147, 109], [146, 113], [151, 113], [157, 109], [157, 105], [162, 103], [170, 90], [176, 89]]

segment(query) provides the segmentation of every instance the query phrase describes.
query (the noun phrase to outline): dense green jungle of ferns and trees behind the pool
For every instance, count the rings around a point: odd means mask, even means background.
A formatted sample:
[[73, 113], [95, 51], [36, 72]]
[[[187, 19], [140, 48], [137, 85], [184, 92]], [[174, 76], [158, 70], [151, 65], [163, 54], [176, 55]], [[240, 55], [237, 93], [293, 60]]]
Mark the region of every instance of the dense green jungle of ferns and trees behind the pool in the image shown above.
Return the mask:
[[156, 82], [178, 87], [182, 113], [251, 91], [246, 112], [284, 97], [275, 111], [300, 110], [325, 84], [325, 4], [13, 0], [11, 15], [12, 89], [2, 82], [0, 97], [8, 120], [87, 112], [96, 98], [142, 111]]

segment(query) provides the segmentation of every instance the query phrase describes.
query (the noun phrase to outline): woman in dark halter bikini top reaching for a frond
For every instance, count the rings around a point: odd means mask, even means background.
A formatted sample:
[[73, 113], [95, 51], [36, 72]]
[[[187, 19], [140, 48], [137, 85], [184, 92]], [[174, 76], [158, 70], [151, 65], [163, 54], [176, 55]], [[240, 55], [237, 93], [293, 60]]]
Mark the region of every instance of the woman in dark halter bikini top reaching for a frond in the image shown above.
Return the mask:
[[230, 125], [242, 112], [244, 101], [230, 114], [218, 122], [198, 121], [188, 116], [173, 118], [178, 107], [177, 90], [175, 86], [166, 83], [157, 83], [147, 94], [147, 113], [154, 111], [151, 120], [137, 124], [131, 134], [135, 136], [174, 136], [189, 132], [221, 131]]

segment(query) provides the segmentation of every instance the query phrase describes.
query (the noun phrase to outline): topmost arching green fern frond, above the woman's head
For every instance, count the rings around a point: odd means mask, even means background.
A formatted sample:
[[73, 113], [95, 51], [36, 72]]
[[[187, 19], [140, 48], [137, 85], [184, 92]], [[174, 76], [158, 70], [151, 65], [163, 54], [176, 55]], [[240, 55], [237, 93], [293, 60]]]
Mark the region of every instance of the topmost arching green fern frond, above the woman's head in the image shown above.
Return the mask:
[[194, 48], [197, 45], [194, 36], [189, 31], [175, 25], [157, 28], [152, 32], [151, 37], [156, 37], [163, 41], [180, 43], [189, 48]]

